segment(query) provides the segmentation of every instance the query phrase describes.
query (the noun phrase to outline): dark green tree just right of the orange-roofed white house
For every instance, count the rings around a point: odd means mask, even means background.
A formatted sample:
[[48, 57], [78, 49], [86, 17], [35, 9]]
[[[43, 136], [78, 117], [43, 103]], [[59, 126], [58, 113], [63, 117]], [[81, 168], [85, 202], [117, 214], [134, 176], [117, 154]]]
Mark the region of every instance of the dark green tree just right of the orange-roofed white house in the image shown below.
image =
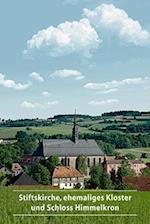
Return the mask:
[[91, 184], [94, 189], [97, 187], [100, 187], [100, 181], [101, 181], [102, 175], [103, 175], [102, 165], [91, 167], [91, 170], [90, 170]]

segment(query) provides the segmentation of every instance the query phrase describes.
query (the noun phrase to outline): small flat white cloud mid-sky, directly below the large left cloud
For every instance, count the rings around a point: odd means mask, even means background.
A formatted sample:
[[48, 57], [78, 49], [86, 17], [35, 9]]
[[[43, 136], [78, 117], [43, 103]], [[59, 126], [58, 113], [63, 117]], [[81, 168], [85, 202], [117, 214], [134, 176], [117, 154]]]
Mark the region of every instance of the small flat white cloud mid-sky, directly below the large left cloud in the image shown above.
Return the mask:
[[76, 70], [62, 69], [56, 70], [53, 74], [50, 75], [51, 78], [60, 77], [60, 78], [70, 78], [72, 77], [74, 80], [84, 79], [84, 75], [81, 72]]

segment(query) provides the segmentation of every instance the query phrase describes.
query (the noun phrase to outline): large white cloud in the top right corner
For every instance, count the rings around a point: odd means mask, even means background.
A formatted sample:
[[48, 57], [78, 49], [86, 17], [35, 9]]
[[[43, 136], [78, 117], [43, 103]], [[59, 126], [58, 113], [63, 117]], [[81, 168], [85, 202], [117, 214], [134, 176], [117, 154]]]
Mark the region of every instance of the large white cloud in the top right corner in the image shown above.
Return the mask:
[[123, 9], [113, 4], [101, 4], [93, 11], [84, 9], [83, 15], [96, 28], [108, 28], [128, 43], [139, 46], [150, 44], [150, 33], [144, 30], [138, 21], [130, 18]]

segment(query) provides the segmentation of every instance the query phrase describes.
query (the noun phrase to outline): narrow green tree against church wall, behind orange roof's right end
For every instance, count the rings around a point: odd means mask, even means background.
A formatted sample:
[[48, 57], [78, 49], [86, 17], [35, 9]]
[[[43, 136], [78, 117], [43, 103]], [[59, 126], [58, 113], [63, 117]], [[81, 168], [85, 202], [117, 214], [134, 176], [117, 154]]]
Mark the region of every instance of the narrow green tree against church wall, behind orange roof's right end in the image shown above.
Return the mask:
[[87, 162], [85, 156], [78, 156], [76, 159], [76, 168], [81, 174], [87, 174]]

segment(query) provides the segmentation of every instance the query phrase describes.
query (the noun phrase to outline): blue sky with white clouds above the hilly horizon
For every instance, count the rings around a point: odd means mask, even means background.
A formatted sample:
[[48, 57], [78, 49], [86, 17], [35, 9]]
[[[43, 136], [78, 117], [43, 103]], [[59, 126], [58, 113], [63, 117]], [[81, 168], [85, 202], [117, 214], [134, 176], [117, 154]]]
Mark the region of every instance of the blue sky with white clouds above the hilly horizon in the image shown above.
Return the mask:
[[0, 118], [150, 111], [150, 1], [0, 2]]

